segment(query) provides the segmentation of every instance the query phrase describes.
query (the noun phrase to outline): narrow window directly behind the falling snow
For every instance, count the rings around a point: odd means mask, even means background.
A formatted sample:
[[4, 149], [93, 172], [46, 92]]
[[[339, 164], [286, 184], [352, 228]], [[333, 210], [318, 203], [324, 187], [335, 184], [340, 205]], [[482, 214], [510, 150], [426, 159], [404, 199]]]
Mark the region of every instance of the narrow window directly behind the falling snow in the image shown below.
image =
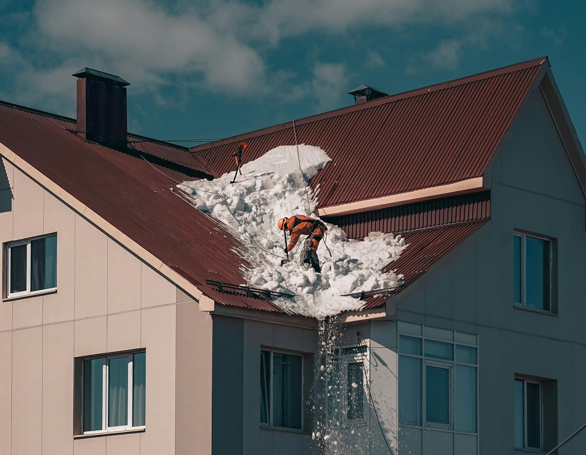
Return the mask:
[[366, 424], [366, 351], [366, 346], [356, 345], [335, 348], [328, 355], [329, 426]]

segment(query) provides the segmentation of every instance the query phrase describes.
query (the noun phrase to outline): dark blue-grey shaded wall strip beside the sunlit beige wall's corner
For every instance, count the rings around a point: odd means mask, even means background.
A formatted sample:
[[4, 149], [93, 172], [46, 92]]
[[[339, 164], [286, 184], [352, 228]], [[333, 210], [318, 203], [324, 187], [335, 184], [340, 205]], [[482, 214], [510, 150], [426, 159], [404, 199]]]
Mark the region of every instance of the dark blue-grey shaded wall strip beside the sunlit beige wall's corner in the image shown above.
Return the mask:
[[213, 316], [212, 454], [243, 453], [242, 319]]

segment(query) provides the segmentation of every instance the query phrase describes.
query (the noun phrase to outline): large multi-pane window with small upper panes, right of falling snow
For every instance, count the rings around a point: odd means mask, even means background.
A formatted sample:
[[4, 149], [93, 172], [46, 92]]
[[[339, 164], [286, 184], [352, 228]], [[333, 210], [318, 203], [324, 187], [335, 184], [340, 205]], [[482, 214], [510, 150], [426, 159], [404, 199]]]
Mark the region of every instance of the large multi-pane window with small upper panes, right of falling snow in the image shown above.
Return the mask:
[[401, 334], [399, 353], [400, 425], [476, 433], [477, 347]]

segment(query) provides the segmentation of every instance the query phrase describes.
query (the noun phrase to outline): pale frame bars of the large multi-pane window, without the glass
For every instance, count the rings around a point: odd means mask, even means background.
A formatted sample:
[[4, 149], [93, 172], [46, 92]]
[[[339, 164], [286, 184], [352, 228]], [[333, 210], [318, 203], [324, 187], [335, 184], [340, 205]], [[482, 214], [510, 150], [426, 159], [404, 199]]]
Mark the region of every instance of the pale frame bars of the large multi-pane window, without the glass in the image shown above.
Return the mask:
[[[418, 338], [421, 340], [421, 355], [417, 354], [407, 354], [401, 352], [401, 336], [410, 337], [410, 338]], [[425, 356], [425, 341], [439, 341], [440, 343], [446, 343], [452, 345], [452, 358], [453, 360], [444, 360], [441, 358], [435, 357], [426, 357]], [[478, 368], [479, 368], [479, 347], [477, 344], [469, 344], [469, 343], [462, 343], [461, 341], [452, 341], [452, 340], [445, 340], [442, 338], [435, 338], [425, 335], [417, 335], [413, 333], [397, 333], [397, 355], [403, 357], [412, 357], [417, 358], [421, 362], [421, 426], [419, 425], [407, 425], [405, 423], [399, 423], [398, 425], [401, 427], [407, 428], [431, 428], [431, 429], [440, 429], [440, 430], [449, 430], [454, 433], [462, 434], [462, 435], [478, 435], [479, 434], [479, 375], [478, 375]], [[456, 346], [466, 346], [472, 347], [476, 349], [476, 363], [475, 364], [468, 364], [466, 362], [460, 362], [456, 360]], [[398, 359], [397, 359], [398, 365]], [[449, 370], [449, 425], [444, 425], [441, 423], [435, 422], [428, 422], [427, 421], [427, 369], [425, 368], [427, 365], [432, 367], [442, 367], [448, 368]], [[456, 409], [455, 409], [455, 398], [456, 398], [456, 365], [464, 365], [466, 367], [474, 367], [476, 368], [476, 432], [469, 433], [462, 430], [456, 430], [455, 428], [455, 418], [456, 418]], [[398, 372], [400, 374], [400, 372]], [[398, 394], [398, 390], [397, 390]], [[398, 395], [397, 395], [398, 396]], [[397, 409], [398, 412], [398, 409]]]

